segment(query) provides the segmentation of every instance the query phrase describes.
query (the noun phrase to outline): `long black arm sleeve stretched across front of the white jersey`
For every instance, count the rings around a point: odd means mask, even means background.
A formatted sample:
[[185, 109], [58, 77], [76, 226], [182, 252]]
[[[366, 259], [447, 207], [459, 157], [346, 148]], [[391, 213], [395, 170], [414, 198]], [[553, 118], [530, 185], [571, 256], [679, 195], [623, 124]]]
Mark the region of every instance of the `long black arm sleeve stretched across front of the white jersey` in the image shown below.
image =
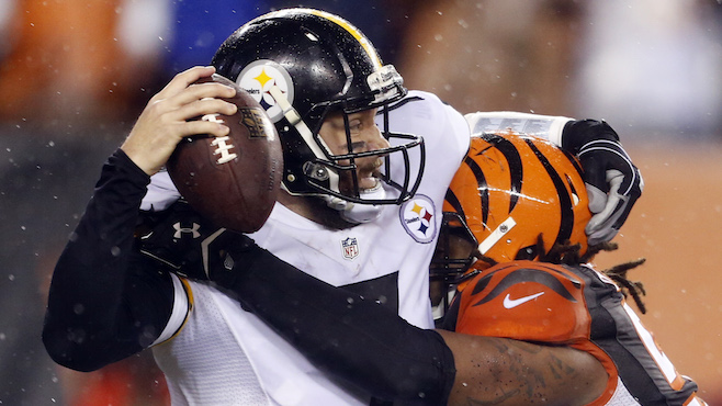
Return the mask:
[[441, 336], [381, 304], [319, 281], [252, 246], [232, 256], [232, 272], [212, 274], [319, 369], [373, 396], [445, 404], [455, 376]]

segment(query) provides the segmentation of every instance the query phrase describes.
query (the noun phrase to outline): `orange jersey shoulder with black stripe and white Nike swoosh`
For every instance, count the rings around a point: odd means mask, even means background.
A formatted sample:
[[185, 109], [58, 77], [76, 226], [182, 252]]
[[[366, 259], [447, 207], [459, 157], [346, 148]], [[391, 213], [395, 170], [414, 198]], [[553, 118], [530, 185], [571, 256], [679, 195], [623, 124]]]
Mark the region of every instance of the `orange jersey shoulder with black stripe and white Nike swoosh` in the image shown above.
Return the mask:
[[456, 331], [527, 341], [571, 343], [589, 337], [584, 281], [561, 266], [516, 261], [466, 285]]

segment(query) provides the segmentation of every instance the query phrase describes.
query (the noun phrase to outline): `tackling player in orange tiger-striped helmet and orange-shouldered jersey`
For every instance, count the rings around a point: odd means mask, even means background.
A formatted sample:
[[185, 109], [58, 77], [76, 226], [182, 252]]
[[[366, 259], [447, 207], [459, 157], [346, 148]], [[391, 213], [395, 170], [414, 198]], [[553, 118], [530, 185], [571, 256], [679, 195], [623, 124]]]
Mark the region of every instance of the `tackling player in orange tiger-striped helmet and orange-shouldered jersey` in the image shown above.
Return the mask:
[[239, 235], [228, 238], [245, 248], [214, 249], [207, 274], [320, 368], [388, 402], [704, 405], [612, 281], [640, 305], [630, 264], [609, 275], [585, 264], [609, 247], [587, 243], [591, 214], [576, 160], [537, 138], [481, 134], [444, 215], [431, 277], [460, 293], [437, 331]]

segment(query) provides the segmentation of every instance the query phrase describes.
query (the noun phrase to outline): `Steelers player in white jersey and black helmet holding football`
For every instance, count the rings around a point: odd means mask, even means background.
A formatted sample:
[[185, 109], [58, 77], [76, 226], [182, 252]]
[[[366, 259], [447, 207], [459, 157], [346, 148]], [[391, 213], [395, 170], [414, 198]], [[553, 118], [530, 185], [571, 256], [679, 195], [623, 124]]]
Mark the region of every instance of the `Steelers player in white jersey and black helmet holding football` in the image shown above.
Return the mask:
[[[323, 11], [250, 21], [213, 66], [179, 74], [154, 95], [103, 167], [53, 275], [46, 349], [90, 371], [153, 347], [179, 404], [368, 404], [368, 393], [318, 371], [223, 291], [161, 270], [136, 247], [138, 208], [161, 218], [180, 198], [160, 171], [180, 139], [227, 134], [223, 124], [189, 121], [235, 112], [219, 100], [232, 89], [193, 84], [217, 71], [258, 98], [283, 146], [283, 191], [256, 243], [431, 328], [427, 269], [469, 124], [433, 94], [407, 92], [356, 27]], [[600, 191], [590, 236], [611, 238], [641, 193], [636, 168], [602, 122], [510, 113], [477, 123], [530, 124], [578, 155]], [[174, 240], [196, 236], [183, 222], [173, 223]]]

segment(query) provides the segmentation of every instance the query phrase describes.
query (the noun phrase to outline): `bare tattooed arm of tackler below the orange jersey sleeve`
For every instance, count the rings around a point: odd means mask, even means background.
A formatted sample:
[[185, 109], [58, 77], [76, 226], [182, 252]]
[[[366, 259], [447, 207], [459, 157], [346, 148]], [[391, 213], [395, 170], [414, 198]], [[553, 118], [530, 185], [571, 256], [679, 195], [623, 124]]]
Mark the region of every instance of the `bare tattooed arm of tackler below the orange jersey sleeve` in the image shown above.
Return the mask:
[[568, 346], [440, 334], [458, 360], [449, 405], [587, 405], [608, 382], [596, 358]]

